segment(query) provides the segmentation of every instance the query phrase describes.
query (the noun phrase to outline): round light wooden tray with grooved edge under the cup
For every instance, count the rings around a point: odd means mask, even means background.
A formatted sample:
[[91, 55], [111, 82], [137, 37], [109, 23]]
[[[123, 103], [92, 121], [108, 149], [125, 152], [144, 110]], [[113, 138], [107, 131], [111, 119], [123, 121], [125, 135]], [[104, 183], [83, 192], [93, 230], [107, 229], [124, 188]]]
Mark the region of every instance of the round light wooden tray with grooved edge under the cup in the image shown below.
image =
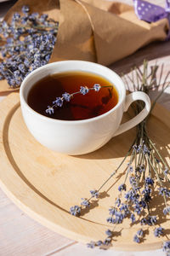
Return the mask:
[[[112, 227], [106, 218], [124, 178], [123, 168], [107, 183], [102, 198], [94, 200], [81, 218], [71, 216], [69, 209], [79, 205], [82, 197], [89, 197], [89, 190], [99, 188], [116, 169], [133, 142], [135, 130], [113, 138], [94, 153], [66, 156], [44, 148], [27, 131], [18, 93], [3, 100], [0, 108], [0, 184], [4, 192], [31, 218], [63, 236], [83, 243], [104, 239], [105, 230]], [[167, 161], [169, 129], [170, 113], [156, 106], [149, 131]], [[152, 207], [153, 215], [161, 214], [163, 205], [159, 197]], [[169, 227], [170, 218], [162, 217], [161, 226]], [[118, 224], [111, 248], [141, 251], [161, 247], [161, 240], [153, 236], [151, 228], [141, 244], [134, 243], [133, 236], [140, 227], [131, 226], [128, 219]]]

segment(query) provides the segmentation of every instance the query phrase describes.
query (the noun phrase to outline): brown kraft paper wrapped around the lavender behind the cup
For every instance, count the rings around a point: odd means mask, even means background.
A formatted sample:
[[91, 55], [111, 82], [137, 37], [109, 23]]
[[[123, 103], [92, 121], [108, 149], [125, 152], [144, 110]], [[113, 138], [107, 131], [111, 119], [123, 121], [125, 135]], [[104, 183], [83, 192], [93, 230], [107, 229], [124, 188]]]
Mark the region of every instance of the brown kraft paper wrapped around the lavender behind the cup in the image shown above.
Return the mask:
[[[165, 40], [169, 29], [167, 19], [147, 23], [137, 18], [133, 6], [106, 0], [19, 0], [5, 20], [23, 5], [59, 21], [50, 62], [84, 60], [108, 66], [150, 42]], [[1, 81], [3, 90], [11, 89]]]

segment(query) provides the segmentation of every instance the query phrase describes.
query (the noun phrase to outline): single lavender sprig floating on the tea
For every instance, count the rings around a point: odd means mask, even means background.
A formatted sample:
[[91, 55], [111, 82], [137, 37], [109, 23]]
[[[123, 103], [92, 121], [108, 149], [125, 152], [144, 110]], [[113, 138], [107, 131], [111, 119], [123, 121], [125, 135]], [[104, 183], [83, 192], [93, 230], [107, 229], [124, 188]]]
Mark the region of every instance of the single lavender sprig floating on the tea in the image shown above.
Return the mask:
[[92, 88], [88, 88], [87, 86], [81, 86], [80, 90], [77, 92], [73, 92], [73, 93], [68, 93], [65, 92], [64, 94], [62, 94], [61, 97], [56, 97], [56, 99], [53, 102], [53, 106], [48, 106], [48, 108], [46, 109], [46, 113], [48, 114], [53, 114], [54, 113], [54, 108], [61, 108], [63, 106], [63, 102], [70, 102], [71, 98], [73, 98], [73, 96], [77, 95], [77, 94], [82, 94], [83, 96], [85, 96], [86, 94], [88, 94], [88, 92], [90, 90], [94, 90], [96, 92], [98, 92], [101, 88], [111, 88], [113, 87], [111, 86], [101, 86], [100, 84], [94, 84], [94, 86]]

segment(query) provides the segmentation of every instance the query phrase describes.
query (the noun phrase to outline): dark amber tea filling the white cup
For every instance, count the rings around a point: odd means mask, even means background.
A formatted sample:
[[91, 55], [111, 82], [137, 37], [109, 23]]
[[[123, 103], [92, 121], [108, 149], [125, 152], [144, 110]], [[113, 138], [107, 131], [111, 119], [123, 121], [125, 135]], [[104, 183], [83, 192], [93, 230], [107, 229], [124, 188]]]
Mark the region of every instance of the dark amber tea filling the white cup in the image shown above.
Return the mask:
[[[94, 84], [108, 87], [102, 87], [99, 91], [89, 90], [86, 95], [79, 93], [73, 96], [70, 102], [64, 102], [62, 107], [54, 108], [53, 114], [46, 113], [46, 109], [53, 105], [56, 97], [65, 92], [77, 92], [81, 86], [92, 88]], [[91, 119], [108, 112], [117, 102], [118, 93], [110, 81], [99, 74], [75, 71], [50, 74], [40, 79], [31, 87], [27, 96], [28, 105], [37, 113], [61, 120]]]

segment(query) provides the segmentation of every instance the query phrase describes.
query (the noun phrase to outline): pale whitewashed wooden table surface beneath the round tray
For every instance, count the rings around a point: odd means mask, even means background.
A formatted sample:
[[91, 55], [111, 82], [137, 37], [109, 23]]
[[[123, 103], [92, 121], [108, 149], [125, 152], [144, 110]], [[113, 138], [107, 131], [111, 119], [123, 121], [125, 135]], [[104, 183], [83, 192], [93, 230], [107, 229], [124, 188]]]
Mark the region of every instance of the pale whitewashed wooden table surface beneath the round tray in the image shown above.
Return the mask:
[[[132, 4], [132, 1], [122, 1]], [[164, 1], [155, 0], [152, 3], [164, 5]], [[0, 18], [4, 15], [11, 3], [0, 3]], [[165, 64], [165, 72], [170, 69], [170, 42], [151, 44], [144, 49], [140, 49], [137, 53], [128, 56], [122, 61], [117, 61], [111, 68], [117, 73], [128, 73], [134, 64], [141, 65], [144, 58], [150, 60], [150, 65], [156, 60], [158, 64]], [[161, 104], [170, 110], [170, 89], [166, 90], [161, 97]], [[153, 93], [151, 96], [156, 96]], [[5, 96], [0, 95], [0, 101]], [[19, 188], [20, 189], [20, 188]], [[85, 245], [77, 241], [60, 236], [51, 230], [38, 224], [29, 218], [24, 212], [21, 212], [12, 201], [4, 195], [0, 189], [0, 255], [89, 255], [89, 256], [161, 256], [161, 249], [150, 252], [115, 252], [112, 250], [103, 251], [99, 249], [88, 249]]]

